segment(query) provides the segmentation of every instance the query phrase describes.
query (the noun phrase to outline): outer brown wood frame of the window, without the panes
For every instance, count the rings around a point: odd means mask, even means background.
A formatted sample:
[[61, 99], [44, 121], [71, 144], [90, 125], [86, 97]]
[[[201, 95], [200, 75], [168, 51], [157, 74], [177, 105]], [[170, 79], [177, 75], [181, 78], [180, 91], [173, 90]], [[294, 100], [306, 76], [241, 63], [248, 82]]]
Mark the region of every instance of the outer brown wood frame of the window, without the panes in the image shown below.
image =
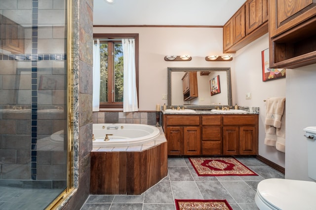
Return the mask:
[[[136, 90], [137, 90], [137, 102], [139, 105], [139, 94], [138, 94], [138, 52], [139, 52], [139, 47], [138, 47], [138, 36], [139, 34], [93, 34], [93, 39], [118, 39], [118, 38], [134, 38], [135, 40], [135, 73], [136, 73]], [[112, 62], [112, 61], [111, 61]], [[112, 81], [114, 82], [114, 81]], [[108, 84], [110, 85], [110, 83]], [[111, 85], [114, 85], [111, 83]], [[115, 102], [115, 103], [108, 103], [108, 102], [100, 102], [99, 105], [100, 108], [123, 108], [123, 103], [122, 102]]]

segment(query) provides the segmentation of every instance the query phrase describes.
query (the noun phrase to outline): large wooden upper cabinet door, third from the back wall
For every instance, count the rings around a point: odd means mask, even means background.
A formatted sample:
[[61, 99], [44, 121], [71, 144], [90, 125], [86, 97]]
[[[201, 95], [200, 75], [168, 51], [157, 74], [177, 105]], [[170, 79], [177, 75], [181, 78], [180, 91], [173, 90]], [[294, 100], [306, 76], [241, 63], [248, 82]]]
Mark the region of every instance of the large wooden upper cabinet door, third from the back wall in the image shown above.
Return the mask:
[[262, 0], [247, 0], [246, 4], [246, 35], [263, 23]]

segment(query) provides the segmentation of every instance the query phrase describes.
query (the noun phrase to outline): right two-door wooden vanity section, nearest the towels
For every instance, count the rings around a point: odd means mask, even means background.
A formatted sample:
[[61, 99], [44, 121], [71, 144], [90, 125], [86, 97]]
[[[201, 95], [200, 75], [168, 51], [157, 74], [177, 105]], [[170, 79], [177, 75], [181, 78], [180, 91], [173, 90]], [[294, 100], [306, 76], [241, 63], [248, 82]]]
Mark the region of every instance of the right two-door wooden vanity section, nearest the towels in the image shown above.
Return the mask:
[[223, 155], [255, 155], [258, 115], [223, 117]]

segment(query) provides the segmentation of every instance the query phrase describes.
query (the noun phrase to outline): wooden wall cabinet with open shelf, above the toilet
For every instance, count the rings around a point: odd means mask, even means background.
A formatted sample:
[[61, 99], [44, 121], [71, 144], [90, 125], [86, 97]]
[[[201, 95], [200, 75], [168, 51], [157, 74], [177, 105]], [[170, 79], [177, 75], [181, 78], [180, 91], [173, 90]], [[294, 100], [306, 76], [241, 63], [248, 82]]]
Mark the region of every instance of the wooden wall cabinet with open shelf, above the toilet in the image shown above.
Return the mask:
[[315, 0], [270, 0], [270, 68], [316, 63]]

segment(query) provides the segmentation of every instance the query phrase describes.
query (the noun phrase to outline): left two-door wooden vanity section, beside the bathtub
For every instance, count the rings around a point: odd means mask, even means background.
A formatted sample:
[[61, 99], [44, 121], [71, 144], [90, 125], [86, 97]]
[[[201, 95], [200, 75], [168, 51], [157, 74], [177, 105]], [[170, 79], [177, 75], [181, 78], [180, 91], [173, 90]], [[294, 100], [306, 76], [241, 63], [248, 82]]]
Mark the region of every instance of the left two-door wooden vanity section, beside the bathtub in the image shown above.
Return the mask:
[[199, 116], [163, 115], [168, 155], [199, 155]]

